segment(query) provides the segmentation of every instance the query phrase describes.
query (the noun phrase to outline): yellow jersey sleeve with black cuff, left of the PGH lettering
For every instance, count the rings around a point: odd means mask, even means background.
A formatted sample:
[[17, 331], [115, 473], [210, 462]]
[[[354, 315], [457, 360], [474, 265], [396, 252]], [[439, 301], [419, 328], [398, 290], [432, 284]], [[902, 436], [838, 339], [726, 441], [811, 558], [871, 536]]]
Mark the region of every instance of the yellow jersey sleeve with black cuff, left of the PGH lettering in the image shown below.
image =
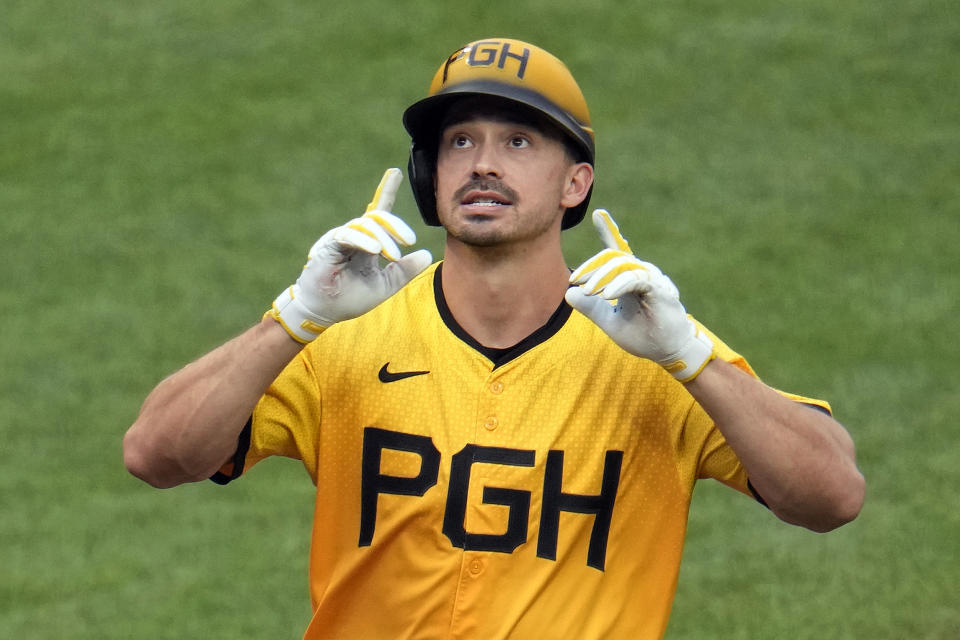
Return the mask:
[[270, 456], [301, 460], [316, 482], [321, 399], [308, 351], [301, 351], [257, 402], [237, 452], [211, 478], [214, 482], [226, 484]]

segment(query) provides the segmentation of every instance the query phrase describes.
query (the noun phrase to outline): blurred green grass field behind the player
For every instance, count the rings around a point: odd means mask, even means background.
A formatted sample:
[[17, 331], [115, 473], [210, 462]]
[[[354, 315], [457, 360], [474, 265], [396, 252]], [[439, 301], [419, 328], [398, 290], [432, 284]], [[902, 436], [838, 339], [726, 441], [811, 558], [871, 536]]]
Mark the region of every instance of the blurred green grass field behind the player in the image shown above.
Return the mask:
[[[405, 166], [470, 39], [540, 43], [593, 203], [868, 481], [821, 536], [698, 488], [668, 637], [960, 637], [960, 12], [946, 0], [0, 0], [0, 637], [298, 638], [312, 486], [155, 491], [123, 432]], [[404, 190], [397, 211], [417, 221]], [[441, 236], [415, 225], [439, 255]], [[571, 264], [597, 247], [569, 232]]]

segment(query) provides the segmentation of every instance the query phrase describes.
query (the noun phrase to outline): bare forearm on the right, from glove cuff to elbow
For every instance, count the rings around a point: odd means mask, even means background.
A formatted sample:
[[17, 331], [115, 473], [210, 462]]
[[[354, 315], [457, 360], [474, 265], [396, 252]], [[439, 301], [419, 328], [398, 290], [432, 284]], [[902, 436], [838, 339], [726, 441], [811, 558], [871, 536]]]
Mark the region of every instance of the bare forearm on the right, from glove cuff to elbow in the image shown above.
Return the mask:
[[833, 418], [719, 359], [686, 386], [779, 518], [829, 531], [856, 517], [864, 479], [849, 434]]

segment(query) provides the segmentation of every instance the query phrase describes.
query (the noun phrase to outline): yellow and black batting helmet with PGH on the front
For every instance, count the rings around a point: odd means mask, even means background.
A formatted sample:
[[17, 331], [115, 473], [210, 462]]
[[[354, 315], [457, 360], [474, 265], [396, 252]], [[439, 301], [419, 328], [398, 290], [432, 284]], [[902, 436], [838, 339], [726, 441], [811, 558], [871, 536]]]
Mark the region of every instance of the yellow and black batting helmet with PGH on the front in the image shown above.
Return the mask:
[[[540, 47], [520, 40], [489, 38], [471, 42], [440, 65], [427, 97], [403, 114], [403, 125], [412, 138], [410, 184], [427, 224], [440, 224], [433, 177], [441, 123], [450, 106], [468, 96], [501, 98], [544, 116], [564, 135], [578, 162], [593, 164], [590, 112], [566, 65]], [[582, 203], [564, 213], [564, 229], [583, 219], [590, 193]]]

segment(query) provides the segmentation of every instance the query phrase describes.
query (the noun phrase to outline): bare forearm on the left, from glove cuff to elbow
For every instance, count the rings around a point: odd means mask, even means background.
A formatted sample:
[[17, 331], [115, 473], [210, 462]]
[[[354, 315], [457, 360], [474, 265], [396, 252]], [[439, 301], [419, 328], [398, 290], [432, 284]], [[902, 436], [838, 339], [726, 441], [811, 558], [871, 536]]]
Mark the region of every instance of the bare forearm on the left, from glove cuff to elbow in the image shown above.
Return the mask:
[[123, 439], [127, 469], [156, 487], [211, 476], [302, 347], [268, 318], [163, 380]]

